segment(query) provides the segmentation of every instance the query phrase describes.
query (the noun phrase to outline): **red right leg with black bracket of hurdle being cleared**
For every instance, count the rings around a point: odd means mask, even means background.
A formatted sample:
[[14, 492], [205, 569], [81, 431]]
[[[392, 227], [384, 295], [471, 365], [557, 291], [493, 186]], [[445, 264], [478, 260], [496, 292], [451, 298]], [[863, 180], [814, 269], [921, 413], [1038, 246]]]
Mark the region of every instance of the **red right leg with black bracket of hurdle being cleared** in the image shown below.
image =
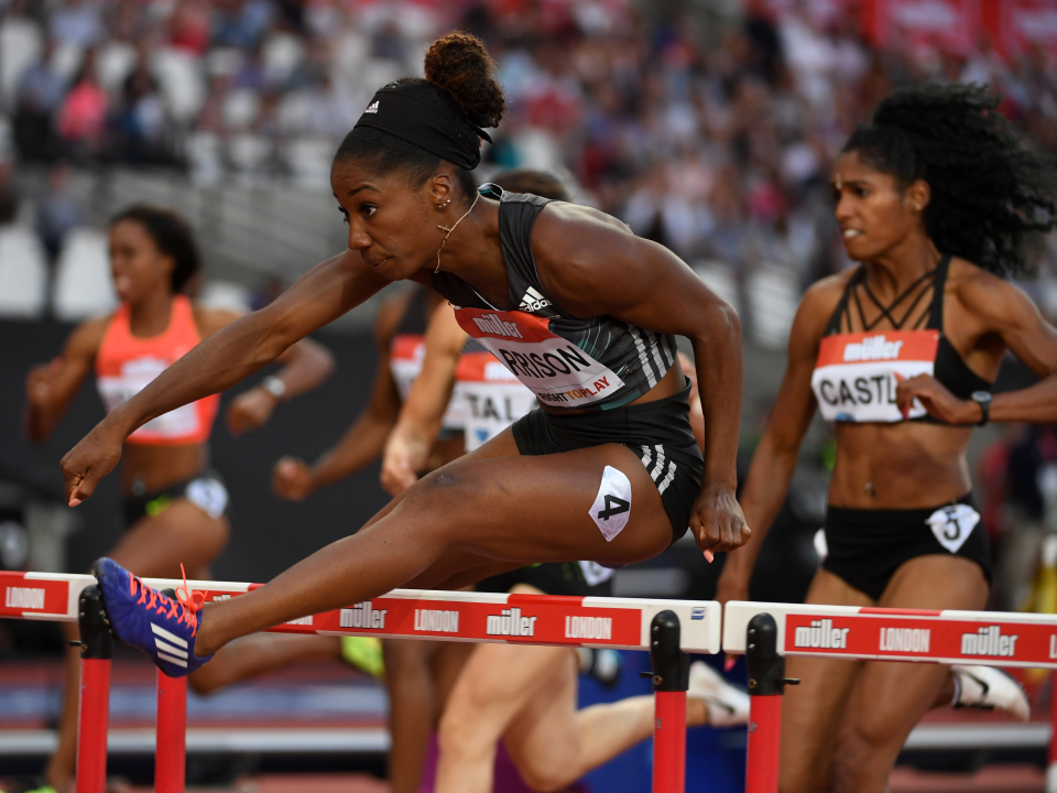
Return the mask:
[[690, 656], [679, 648], [679, 618], [662, 611], [650, 626], [653, 666], [653, 793], [686, 787], [686, 689]]

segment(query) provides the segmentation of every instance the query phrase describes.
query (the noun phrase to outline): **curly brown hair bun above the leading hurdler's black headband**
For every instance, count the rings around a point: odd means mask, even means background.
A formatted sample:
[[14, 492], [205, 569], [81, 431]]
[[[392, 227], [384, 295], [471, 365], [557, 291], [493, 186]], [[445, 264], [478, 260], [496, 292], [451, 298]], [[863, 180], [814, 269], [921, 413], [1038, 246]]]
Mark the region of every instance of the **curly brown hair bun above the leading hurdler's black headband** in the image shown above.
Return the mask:
[[484, 43], [464, 31], [437, 39], [426, 51], [426, 79], [451, 95], [478, 127], [498, 127], [506, 109]]

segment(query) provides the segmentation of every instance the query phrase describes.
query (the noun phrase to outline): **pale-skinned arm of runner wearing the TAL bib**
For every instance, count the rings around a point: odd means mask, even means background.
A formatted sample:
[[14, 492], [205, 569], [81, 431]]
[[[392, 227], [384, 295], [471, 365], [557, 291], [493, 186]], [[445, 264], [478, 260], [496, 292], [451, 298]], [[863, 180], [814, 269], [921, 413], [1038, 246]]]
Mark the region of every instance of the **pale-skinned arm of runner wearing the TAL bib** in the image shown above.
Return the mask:
[[455, 321], [455, 312], [440, 306], [426, 330], [422, 372], [415, 378], [385, 444], [382, 487], [392, 496], [414, 485], [428, 464], [429, 452], [451, 400], [455, 370], [466, 338], [466, 332]]

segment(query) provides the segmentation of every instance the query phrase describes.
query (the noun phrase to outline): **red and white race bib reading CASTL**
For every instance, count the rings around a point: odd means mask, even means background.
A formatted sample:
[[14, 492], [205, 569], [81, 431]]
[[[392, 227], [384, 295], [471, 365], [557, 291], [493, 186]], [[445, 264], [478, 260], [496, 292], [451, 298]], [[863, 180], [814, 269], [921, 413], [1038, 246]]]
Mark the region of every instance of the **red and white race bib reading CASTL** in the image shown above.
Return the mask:
[[[819, 345], [811, 389], [826, 421], [901, 422], [895, 374], [931, 374], [938, 330], [835, 334]], [[907, 419], [925, 415], [914, 400]]]

